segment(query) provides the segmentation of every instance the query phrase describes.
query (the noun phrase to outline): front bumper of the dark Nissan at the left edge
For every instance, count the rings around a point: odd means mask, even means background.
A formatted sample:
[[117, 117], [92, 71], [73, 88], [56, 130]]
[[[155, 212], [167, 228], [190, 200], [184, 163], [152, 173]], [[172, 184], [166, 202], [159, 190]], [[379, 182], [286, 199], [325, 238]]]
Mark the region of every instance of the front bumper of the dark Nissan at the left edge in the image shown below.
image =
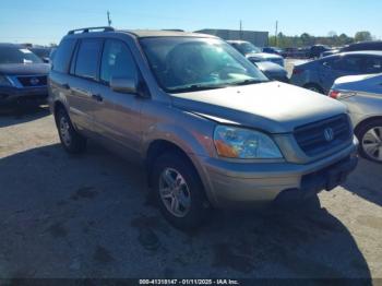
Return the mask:
[[39, 87], [0, 87], [0, 106], [17, 102], [46, 103], [48, 97], [47, 86]]

